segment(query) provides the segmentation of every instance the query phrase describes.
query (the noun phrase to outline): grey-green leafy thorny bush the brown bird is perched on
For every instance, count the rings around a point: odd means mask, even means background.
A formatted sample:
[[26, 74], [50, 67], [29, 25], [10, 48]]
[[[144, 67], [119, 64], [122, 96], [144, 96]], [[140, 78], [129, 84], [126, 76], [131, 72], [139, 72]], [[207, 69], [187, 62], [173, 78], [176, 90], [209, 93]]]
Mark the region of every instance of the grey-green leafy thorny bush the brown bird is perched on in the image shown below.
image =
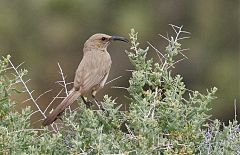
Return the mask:
[[[46, 117], [27, 87], [26, 70], [15, 67], [10, 56], [0, 62], [0, 152], [1, 154], [240, 154], [240, 129], [236, 118], [226, 126], [210, 120], [209, 105], [216, 88], [202, 94], [185, 87], [181, 75], [172, 74], [185, 58], [182, 27], [171, 25], [176, 36], [164, 37], [168, 45], [159, 62], [147, 59], [149, 48], [141, 49], [131, 30], [131, 49], [126, 51], [134, 66], [127, 88], [128, 111], [108, 95], [101, 102], [105, 111], [91, 110], [78, 101], [79, 109], [66, 110], [60, 123], [33, 129], [30, 117]], [[62, 70], [60, 68], [61, 74]], [[11, 73], [11, 74], [10, 74]], [[14, 75], [14, 76], [11, 76]], [[63, 74], [62, 74], [63, 75]], [[64, 76], [62, 76], [64, 77]], [[66, 86], [63, 78], [64, 86]], [[23, 89], [18, 90], [19, 84]], [[18, 88], [18, 89], [17, 89]], [[66, 87], [65, 87], [66, 88]], [[13, 94], [27, 92], [30, 107], [14, 110]], [[66, 91], [67, 94], [67, 91]], [[28, 101], [27, 100], [27, 101]]]

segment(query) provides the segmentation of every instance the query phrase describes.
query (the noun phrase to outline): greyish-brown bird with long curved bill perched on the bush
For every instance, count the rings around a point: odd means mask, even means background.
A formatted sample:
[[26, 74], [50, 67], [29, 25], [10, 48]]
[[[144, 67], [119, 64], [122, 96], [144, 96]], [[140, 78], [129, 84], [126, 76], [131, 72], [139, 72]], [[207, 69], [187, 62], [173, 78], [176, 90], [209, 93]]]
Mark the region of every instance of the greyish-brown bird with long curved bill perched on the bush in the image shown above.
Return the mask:
[[97, 102], [96, 93], [103, 88], [112, 64], [107, 47], [111, 41], [115, 40], [128, 42], [123, 37], [101, 33], [94, 34], [85, 42], [83, 58], [76, 70], [73, 88], [69, 95], [43, 121], [44, 126], [52, 124], [79, 96], [88, 107], [89, 103], [85, 101], [83, 95], [91, 93]]

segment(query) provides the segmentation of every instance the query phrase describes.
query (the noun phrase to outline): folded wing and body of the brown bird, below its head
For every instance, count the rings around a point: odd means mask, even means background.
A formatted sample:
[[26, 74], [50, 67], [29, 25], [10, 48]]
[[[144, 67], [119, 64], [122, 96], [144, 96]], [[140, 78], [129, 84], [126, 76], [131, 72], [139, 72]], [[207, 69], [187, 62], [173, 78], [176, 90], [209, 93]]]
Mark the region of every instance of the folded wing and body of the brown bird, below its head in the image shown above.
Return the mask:
[[111, 59], [100, 57], [84, 57], [76, 71], [74, 86], [81, 87], [83, 93], [99, 85], [110, 70]]

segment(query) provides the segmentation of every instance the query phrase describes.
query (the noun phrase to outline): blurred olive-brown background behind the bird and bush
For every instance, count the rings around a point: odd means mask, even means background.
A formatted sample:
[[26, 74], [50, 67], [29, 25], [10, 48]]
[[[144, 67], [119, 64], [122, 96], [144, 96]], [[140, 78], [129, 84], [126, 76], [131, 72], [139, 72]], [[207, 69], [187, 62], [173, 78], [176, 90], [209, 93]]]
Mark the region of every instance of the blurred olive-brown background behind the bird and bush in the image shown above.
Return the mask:
[[[158, 34], [172, 34], [168, 24], [183, 25], [191, 38], [181, 43], [190, 50], [184, 53], [188, 59], [174, 72], [183, 75], [189, 89], [205, 93], [216, 86], [218, 99], [211, 112], [213, 118], [227, 122], [234, 118], [235, 99], [240, 118], [239, 8], [238, 0], [1, 0], [0, 56], [11, 54], [15, 65], [25, 62], [35, 97], [53, 89], [39, 100], [45, 109], [62, 88], [55, 83], [61, 79], [57, 63], [67, 75], [66, 81], [73, 81], [83, 44], [92, 34], [128, 37], [135, 28], [142, 48], [149, 41], [164, 50], [166, 42]], [[108, 48], [113, 60], [108, 80], [122, 78], [100, 91], [99, 99], [109, 94], [118, 97], [119, 103], [126, 102], [125, 90], [111, 87], [128, 86], [126, 69], [132, 66], [124, 51], [129, 47], [117, 42]], [[153, 53], [151, 49], [149, 55], [154, 57]], [[18, 108], [26, 105], [31, 103], [19, 102]]]

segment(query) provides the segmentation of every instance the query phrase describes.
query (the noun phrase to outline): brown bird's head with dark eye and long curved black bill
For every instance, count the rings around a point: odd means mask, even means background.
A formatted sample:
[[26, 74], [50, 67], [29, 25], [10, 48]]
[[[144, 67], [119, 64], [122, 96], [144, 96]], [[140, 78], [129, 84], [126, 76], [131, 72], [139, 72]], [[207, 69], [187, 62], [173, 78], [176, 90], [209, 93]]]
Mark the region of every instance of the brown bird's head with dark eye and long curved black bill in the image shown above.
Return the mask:
[[92, 48], [98, 50], [106, 50], [111, 41], [124, 41], [127, 39], [119, 36], [110, 36], [107, 34], [97, 33], [92, 35], [84, 44], [84, 48]]

